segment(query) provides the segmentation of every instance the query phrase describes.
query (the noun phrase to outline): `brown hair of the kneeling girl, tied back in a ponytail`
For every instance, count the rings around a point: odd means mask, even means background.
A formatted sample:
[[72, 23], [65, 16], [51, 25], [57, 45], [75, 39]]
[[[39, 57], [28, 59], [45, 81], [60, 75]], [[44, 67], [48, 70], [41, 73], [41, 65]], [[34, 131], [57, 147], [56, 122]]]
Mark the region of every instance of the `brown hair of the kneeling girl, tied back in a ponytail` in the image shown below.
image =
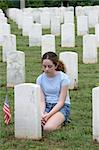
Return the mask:
[[55, 66], [57, 66], [57, 71], [66, 72], [65, 66], [62, 61], [59, 60], [58, 56], [54, 52], [46, 52], [42, 57], [42, 62], [44, 59], [50, 59]]

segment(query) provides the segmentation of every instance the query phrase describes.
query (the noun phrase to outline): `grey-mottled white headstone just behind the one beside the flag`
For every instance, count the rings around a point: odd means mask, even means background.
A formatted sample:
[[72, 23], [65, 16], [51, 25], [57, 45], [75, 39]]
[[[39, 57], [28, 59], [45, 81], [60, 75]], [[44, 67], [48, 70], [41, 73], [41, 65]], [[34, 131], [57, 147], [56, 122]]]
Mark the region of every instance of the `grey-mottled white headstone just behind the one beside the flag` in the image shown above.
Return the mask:
[[25, 82], [25, 54], [22, 51], [9, 53], [7, 57], [7, 87]]

